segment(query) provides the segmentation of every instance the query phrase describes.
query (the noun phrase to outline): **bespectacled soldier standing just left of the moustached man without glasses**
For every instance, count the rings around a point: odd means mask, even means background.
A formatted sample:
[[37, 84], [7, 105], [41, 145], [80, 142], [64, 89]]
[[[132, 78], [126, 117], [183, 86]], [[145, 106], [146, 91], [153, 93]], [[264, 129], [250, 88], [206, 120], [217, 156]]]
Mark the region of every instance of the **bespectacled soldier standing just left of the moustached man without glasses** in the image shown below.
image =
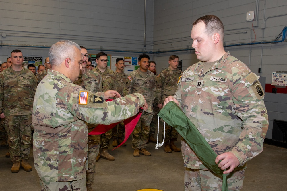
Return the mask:
[[[104, 52], [100, 52], [96, 55], [97, 66], [94, 70], [102, 76], [103, 90], [117, 90], [117, 79], [116, 74], [113, 70], [107, 68], [108, 64], [108, 55]], [[106, 160], [114, 161], [115, 157], [108, 153], [108, 147], [110, 146], [110, 139], [112, 138], [112, 129], [106, 133], [101, 134], [101, 148], [102, 152], [100, 153], [101, 158]]]

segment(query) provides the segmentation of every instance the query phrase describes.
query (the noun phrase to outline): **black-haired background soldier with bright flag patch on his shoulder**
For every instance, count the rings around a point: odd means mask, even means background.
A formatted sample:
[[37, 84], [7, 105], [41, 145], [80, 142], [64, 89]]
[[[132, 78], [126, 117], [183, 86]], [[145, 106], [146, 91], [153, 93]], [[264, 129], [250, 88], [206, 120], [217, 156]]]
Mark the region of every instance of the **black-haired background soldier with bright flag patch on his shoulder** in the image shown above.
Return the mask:
[[[124, 89], [124, 95], [130, 93], [140, 93], [144, 95], [148, 106], [152, 106], [155, 99], [156, 91], [156, 76], [148, 70], [148, 61], [150, 57], [146, 54], [141, 54], [138, 58], [139, 69], [131, 72], [127, 77], [127, 86]], [[132, 134], [132, 148], [134, 149], [133, 156], [139, 157], [139, 154], [150, 156], [150, 152], [146, 150], [150, 134], [150, 122], [152, 115], [143, 113], [135, 126]]]

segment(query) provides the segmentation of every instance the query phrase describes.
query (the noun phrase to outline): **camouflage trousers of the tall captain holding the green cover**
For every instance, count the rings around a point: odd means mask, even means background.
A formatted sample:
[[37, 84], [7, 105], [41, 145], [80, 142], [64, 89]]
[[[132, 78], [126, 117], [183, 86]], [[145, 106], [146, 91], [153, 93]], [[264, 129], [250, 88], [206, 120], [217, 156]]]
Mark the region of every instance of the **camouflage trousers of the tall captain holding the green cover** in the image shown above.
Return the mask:
[[[227, 174], [228, 191], [238, 191], [242, 188], [244, 180], [244, 169], [232, 171]], [[185, 167], [184, 170], [185, 191], [221, 191], [221, 176], [208, 170], [191, 169]]]

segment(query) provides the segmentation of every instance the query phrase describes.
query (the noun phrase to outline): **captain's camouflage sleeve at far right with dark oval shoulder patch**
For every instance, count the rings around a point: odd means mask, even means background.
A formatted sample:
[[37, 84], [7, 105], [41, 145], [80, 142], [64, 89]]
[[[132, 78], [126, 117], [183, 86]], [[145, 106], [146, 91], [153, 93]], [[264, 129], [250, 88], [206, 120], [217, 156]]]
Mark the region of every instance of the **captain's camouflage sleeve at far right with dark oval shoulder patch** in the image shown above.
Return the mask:
[[234, 79], [231, 90], [236, 115], [242, 120], [242, 132], [231, 152], [236, 155], [241, 166], [262, 152], [268, 129], [264, 92], [258, 78], [250, 72], [242, 79]]

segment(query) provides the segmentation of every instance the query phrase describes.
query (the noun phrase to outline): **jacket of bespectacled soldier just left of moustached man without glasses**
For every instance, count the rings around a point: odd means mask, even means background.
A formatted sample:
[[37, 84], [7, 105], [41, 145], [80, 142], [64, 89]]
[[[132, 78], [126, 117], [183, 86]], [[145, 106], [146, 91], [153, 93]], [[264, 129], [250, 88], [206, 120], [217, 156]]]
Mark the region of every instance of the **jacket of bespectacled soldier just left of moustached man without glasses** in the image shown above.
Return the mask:
[[102, 82], [103, 82], [103, 91], [107, 90], [116, 90], [118, 88], [116, 74], [113, 70], [106, 68], [105, 72], [101, 72], [99, 68], [96, 66], [94, 70], [95, 72], [98, 72], [102, 76]]

